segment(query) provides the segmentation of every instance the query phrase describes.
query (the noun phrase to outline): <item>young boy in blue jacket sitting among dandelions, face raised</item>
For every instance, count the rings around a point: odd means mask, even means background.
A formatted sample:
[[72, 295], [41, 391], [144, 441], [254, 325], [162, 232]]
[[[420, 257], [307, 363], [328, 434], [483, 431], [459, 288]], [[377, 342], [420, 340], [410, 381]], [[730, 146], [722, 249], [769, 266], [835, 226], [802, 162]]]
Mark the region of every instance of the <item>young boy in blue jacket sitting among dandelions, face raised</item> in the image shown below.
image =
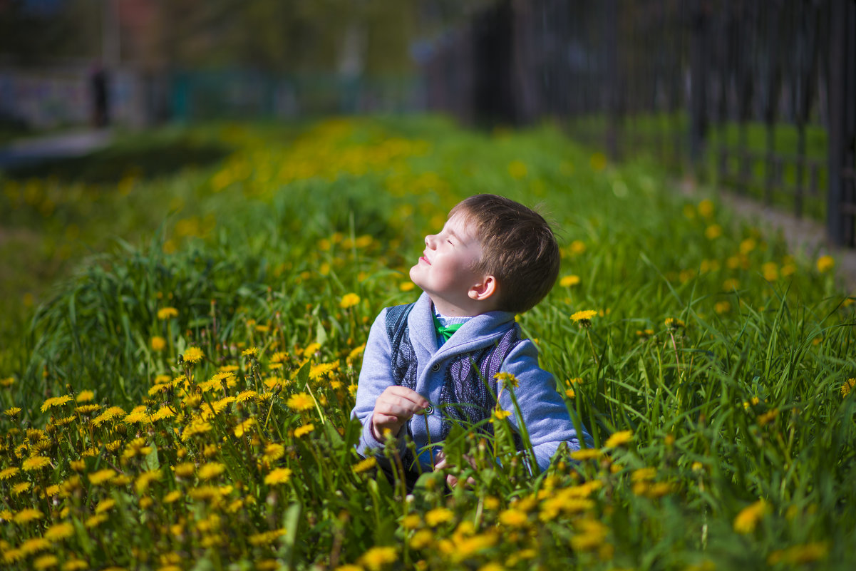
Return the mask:
[[588, 435], [577, 434], [552, 376], [538, 366], [538, 350], [520, 339], [514, 323], [515, 313], [544, 299], [558, 272], [556, 238], [537, 212], [493, 194], [456, 205], [443, 230], [425, 236], [425, 251], [410, 269], [424, 293], [413, 304], [383, 309], [372, 324], [351, 413], [363, 425], [360, 455], [379, 453], [389, 430], [407, 469], [419, 461], [431, 470], [437, 450], [432, 458], [423, 448], [429, 440], [443, 441], [450, 419], [489, 418], [497, 394], [516, 430], [510, 391], [499, 390], [497, 372], [520, 383], [514, 394], [538, 467], [549, 466], [562, 442], [580, 449], [580, 436]]

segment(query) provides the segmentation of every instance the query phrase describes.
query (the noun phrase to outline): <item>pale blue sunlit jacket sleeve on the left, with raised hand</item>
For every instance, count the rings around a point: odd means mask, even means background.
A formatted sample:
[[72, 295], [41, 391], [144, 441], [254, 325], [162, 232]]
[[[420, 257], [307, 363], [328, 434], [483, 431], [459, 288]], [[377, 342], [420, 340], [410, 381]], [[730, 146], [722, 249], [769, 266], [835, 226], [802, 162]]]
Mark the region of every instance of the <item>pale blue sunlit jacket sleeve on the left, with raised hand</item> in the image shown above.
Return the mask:
[[[395, 384], [392, 378], [392, 347], [386, 334], [386, 309], [384, 309], [372, 324], [366, 350], [363, 352], [363, 366], [360, 369], [360, 380], [357, 382], [357, 396], [351, 418], [359, 419], [363, 425], [360, 442], [357, 443], [357, 453], [369, 455], [369, 450], [383, 449], [383, 442], [372, 434], [372, 413], [377, 397], [387, 387]], [[403, 431], [402, 431], [403, 432]], [[404, 439], [398, 439], [398, 451], [405, 452]]]

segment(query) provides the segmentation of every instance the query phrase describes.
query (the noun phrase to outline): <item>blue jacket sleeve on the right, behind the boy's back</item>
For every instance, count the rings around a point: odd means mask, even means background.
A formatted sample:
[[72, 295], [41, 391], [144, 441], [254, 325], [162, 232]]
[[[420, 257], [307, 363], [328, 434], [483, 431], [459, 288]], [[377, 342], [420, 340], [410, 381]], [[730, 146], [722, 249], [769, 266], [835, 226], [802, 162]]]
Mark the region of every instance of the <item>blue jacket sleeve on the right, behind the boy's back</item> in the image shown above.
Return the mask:
[[[518, 343], [502, 361], [500, 372], [509, 372], [520, 382], [514, 395], [542, 471], [550, 466], [550, 459], [562, 442], [567, 442], [572, 450], [579, 450], [581, 441], [591, 439], [581, 423], [578, 425], [582, 434], [577, 433], [568, 407], [556, 392], [553, 376], [538, 366], [538, 349], [532, 341], [525, 339]], [[499, 405], [512, 413], [508, 419], [520, 431], [508, 389], [502, 390]]]

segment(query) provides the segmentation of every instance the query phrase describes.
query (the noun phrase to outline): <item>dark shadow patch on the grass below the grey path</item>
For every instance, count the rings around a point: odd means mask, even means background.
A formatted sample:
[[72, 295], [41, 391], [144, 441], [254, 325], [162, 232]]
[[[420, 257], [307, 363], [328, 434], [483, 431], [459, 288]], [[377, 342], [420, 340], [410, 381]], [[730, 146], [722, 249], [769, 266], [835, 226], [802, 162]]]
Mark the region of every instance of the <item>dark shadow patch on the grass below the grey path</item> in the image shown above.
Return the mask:
[[55, 178], [60, 182], [111, 184], [123, 177], [156, 178], [223, 160], [231, 148], [189, 138], [116, 144], [82, 157], [54, 158], [9, 168], [11, 180]]

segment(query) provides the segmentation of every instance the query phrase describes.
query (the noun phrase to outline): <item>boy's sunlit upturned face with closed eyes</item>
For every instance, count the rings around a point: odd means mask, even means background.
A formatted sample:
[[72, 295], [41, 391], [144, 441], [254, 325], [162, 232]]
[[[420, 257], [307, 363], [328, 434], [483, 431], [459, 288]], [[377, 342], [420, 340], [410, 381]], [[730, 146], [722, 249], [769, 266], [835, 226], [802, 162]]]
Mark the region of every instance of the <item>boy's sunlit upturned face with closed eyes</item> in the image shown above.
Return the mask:
[[425, 251], [410, 269], [410, 279], [431, 296], [444, 315], [469, 315], [470, 289], [483, 276], [473, 271], [481, 259], [478, 238], [460, 214], [449, 218], [439, 234], [425, 236]]

